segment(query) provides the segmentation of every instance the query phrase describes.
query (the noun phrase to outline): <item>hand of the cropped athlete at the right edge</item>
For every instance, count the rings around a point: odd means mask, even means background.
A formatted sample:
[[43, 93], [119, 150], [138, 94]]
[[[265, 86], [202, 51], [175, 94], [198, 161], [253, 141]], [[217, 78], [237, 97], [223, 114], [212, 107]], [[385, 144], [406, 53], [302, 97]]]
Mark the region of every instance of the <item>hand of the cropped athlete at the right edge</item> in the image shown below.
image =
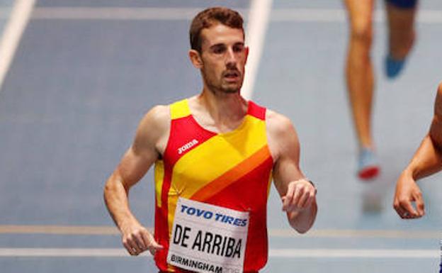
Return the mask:
[[[412, 206], [416, 202], [416, 209]], [[420, 218], [425, 215], [424, 199], [413, 177], [403, 172], [396, 183], [395, 201], [397, 214], [403, 219]]]

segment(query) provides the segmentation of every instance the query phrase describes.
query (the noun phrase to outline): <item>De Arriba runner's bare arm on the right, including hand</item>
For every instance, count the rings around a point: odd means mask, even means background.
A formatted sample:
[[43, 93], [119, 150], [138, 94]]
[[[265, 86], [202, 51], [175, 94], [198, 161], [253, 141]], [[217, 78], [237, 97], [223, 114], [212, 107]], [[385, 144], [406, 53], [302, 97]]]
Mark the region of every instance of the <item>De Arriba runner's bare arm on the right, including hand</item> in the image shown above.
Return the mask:
[[299, 167], [300, 143], [288, 118], [267, 113], [268, 145], [273, 156], [273, 182], [283, 201], [290, 225], [299, 233], [309, 230], [316, 218], [316, 189]]

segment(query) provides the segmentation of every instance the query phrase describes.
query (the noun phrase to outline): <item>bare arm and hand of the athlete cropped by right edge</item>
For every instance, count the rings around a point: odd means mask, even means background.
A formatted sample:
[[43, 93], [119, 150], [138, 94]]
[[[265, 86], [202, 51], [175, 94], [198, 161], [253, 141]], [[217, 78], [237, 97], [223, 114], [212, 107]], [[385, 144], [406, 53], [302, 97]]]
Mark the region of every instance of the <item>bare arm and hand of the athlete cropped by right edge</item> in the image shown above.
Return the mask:
[[[429, 176], [442, 169], [442, 84], [439, 84], [434, 116], [429, 133], [422, 140], [411, 162], [397, 179], [393, 206], [401, 218], [424, 216], [424, 199], [417, 179]], [[416, 209], [412, 206], [416, 202]]]

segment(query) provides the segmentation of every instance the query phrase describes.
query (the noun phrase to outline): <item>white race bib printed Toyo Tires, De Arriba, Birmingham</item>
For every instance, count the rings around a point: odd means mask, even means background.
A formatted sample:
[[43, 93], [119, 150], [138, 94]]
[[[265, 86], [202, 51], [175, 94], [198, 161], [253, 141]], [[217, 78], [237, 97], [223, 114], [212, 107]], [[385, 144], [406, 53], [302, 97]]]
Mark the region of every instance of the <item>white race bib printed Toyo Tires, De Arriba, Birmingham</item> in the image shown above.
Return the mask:
[[179, 198], [167, 262], [196, 272], [244, 269], [249, 212]]

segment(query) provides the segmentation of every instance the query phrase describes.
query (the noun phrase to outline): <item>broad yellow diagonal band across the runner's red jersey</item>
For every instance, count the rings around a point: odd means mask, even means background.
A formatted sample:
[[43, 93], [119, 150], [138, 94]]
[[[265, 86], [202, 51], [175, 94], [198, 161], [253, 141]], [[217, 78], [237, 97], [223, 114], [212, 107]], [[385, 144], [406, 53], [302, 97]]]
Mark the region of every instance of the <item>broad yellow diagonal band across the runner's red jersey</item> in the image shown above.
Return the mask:
[[213, 136], [176, 162], [168, 194], [169, 234], [178, 198], [189, 199], [204, 186], [266, 147], [265, 132], [265, 121], [247, 115], [236, 130]]

